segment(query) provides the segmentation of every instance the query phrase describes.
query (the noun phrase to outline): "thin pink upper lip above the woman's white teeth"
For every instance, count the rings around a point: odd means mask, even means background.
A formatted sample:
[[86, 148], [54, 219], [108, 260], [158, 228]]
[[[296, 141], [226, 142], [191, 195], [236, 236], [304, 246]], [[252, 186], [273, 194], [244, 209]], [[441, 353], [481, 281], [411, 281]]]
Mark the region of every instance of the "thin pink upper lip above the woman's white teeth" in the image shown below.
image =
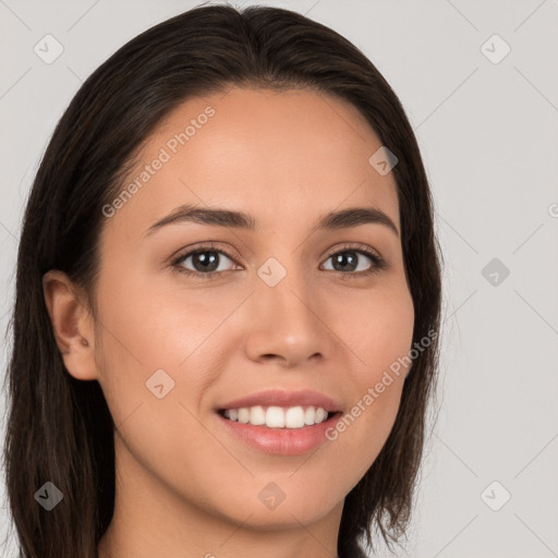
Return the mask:
[[340, 411], [340, 404], [332, 398], [304, 389], [301, 391], [287, 391], [280, 389], [268, 389], [258, 391], [250, 396], [228, 401], [227, 403], [218, 405], [219, 410], [222, 409], [241, 409], [243, 407], [255, 405], [277, 405], [277, 407], [296, 407], [296, 405], [313, 405], [322, 407], [324, 410], [335, 413]]

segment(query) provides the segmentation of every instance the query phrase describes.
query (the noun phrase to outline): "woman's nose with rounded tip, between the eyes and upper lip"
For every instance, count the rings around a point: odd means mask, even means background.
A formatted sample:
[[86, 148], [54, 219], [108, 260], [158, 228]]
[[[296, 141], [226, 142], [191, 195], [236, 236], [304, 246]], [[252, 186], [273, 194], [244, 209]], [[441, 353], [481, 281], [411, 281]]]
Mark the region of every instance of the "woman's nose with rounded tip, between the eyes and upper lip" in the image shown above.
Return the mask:
[[277, 360], [284, 367], [326, 356], [331, 329], [324, 316], [325, 301], [308, 277], [290, 269], [275, 287], [258, 281], [250, 300], [247, 356]]

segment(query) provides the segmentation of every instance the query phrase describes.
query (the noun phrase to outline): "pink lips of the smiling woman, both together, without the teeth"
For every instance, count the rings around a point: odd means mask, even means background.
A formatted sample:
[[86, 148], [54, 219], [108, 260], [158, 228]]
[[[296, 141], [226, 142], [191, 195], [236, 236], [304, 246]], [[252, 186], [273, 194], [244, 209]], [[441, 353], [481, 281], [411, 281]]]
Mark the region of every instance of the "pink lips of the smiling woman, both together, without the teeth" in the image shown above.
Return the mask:
[[270, 428], [266, 425], [255, 426], [250, 423], [231, 421], [216, 413], [217, 418], [227, 432], [240, 439], [253, 449], [264, 453], [280, 456], [298, 456], [318, 448], [328, 441], [326, 432], [335, 428], [335, 424], [341, 417], [341, 405], [333, 399], [317, 391], [281, 391], [267, 390], [252, 393], [240, 399], [234, 399], [217, 407], [217, 410], [240, 409], [243, 407], [322, 407], [329, 412], [329, 417], [319, 424], [306, 425], [301, 428]]

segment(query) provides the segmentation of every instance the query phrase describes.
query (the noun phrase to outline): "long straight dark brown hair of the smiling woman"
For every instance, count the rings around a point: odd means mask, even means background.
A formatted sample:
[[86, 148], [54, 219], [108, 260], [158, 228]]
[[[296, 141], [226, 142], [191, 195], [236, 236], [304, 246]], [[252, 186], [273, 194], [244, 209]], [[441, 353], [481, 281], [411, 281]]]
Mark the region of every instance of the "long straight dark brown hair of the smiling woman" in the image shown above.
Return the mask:
[[[4, 446], [10, 511], [20, 557], [94, 558], [114, 505], [113, 423], [97, 381], [64, 367], [41, 278], [65, 271], [95, 316], [101, 208], [123, 185], [142, 143], [179, 104], [230, 86], [312, 88], [359, 109], [399, 159], [392, 169], [405, 274], [414, 303], [413, 361], [400, 409], [378, 458], [345, 498], [341, 558], [376, 526], [391, 548], [405, 534], [437, 374], [441, 304], [433, 199], [413, 130], [397, 95], [350, 41], [277, 8], [202, 5], [130, 40], [83, 84], [60, 119], [24, 215], [9, 326], [9, 417]], [[371, 154], [372, 155], [372, 154]], [[5, 389], [5, 386], [4, 386]], [[53, 510], [35, 493], [52, 482]]]

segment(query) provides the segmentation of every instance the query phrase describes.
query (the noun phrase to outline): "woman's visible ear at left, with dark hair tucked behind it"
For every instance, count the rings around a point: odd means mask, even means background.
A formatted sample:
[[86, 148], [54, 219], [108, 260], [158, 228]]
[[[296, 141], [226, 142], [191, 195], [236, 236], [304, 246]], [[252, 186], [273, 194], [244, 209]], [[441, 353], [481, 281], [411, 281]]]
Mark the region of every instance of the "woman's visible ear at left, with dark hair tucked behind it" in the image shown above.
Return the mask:
[[58, 269], [43, 276], [43, 292], [68, 372], [76, 379], [98, 379], [95, 328], [83, 293]]

